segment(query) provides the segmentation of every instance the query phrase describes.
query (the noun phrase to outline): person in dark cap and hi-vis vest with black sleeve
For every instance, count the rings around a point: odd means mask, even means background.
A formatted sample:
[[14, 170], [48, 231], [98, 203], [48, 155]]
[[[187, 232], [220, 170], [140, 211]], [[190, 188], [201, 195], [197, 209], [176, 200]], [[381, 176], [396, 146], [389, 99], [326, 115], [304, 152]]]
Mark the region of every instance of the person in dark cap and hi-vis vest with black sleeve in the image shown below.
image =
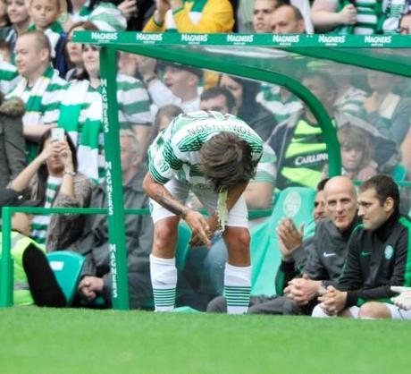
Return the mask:
[[[19, 192], [12, 189], [0, 190], [0, 215], [3, 207], [37, 207], [38, 204], [38, 200], [23, 200]], [[48, 264], [46, 250], [29, 237], [30, 226], [30, 215], [21, 212], [13, 214], [11, 254], [14, 304], [63, 307], [66, 303], [63, 291]], [[2, 250], [3, 234], [0, 233], [0, 253]]]

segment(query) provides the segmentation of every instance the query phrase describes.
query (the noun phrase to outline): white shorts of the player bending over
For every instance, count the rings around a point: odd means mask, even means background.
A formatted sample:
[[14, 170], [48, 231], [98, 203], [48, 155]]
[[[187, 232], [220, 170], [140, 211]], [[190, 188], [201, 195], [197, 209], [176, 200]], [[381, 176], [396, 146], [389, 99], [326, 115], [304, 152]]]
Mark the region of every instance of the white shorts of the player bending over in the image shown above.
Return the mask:
[[[214, 214], [214, 211], [217, 208], [218, 195], [211, 189], [211, 187], [206, 188], [204, 185], [199, 187], [196, 185], [189, 185], [189, 183], [180, 182], [175, 178], [165, 183], [164, 187], [175, 199], [183, 204], [185, 204], [187, 197], [189, 196], [189, 191], [192, 191], [210, 214]], [[150, 200], [150, 211], [154, 223], [160, 219], [175, 216], [174, 213], [162, 207], [155, 200]], [[244, 200], [243, 196], [241, 196], [231, 208], [225, 225], [248, 227], [248, 211], [246, 200]]]

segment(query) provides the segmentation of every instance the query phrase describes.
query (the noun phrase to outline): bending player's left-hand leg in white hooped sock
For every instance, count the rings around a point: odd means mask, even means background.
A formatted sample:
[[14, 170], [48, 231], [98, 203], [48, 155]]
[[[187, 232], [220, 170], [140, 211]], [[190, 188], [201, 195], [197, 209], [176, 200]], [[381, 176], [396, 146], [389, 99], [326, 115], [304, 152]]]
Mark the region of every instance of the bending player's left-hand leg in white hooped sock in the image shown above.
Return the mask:
[[[164, 187], [180, 201], [187, 198], [188, 189], [175, 180], [170, 181]], [[180, 217], [175, 216], [153, 200], [150, 201], [150, 205], [151, 216], [154, 221], [150, 274], [155, 299], [155, 311], [170, 311], [174, 309], [177, 286], [175, 247]]]

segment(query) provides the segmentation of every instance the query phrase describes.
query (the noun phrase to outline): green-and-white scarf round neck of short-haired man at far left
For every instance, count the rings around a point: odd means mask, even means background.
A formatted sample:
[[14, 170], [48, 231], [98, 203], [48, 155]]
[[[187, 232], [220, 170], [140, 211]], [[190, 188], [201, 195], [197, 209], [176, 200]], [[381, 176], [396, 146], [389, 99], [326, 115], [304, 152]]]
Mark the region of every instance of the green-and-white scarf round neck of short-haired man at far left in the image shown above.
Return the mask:
[[[21, 98], [26, 104], [26, 113], [22, 118], [24, 126], [43, 124], [41, 100], [43, 99], [43, 95], [46, 92], [53, 74], [53, 68], [51, 66], [47, 67], [46, 72], [38, 78], [31, 88], [29, 88], [29, 81], [27, 78], [22, 77], [15, 89], [6, 96], [6, 99]], [[26, 149], [28, 161], [33, 160], [37, 156], [38, 144], [32, 141], [27, 141]]]

